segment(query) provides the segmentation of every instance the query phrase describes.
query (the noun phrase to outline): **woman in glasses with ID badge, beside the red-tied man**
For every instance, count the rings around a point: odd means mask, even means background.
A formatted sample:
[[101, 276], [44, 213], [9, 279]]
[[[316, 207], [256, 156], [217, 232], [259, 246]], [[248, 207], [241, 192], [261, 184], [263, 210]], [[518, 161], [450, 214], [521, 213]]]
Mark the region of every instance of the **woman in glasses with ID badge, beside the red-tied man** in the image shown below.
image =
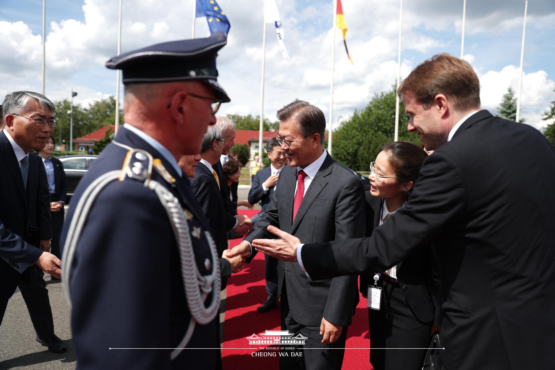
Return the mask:
[[[408, 141], [396, 141], [382, 148], [370, 166], [371, 187], [366, 191], [367, 236], [375, 227], [391, 222], [388, 221], [391, 217], [395, 219], [395, 212], [411, 195], [427, 156], [419, 146]], [[430, 345], [438, 286], [434, 260], [431, 250], [423, 249], [386, 271], [360, 276], [363, 296], [381, 288], [379, 304], [368, 309], [370, 362], [374, 369], [422, 367], [426, 349], [391, 348], [427, 348]]]

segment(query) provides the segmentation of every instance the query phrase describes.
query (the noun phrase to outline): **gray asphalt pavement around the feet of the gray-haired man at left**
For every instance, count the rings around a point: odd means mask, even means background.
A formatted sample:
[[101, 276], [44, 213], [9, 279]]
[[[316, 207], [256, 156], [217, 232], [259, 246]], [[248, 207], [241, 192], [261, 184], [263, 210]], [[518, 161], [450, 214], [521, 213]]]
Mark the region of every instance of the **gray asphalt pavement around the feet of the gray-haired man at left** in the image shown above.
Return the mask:
[[[239, 200], [246, 200], [249, 189], [238, 189]], [[240, 207], [245, 209], [245, 207]], [[260, 205], [255, 205], [260, 209]], [[63, 293], [62, 282], [51, 280], [50, 275], [44, 275], [52, 317], [54, 318], [54, 332], [67, 346], [65, 353], [48, 352], [47, 347], [36, 341], [36, 334], [29, 318], [27, 306], [23, 301], [19, 289], [13, 294], [6, 307], [6, 313], [0, 325], [0, 370], [69, 370], [77, 366], [77, 358], [73, 351], [72, 333], [70, 327], [70, 309]], [[221, 311], [225, 311], [225, 291], [222, 292]], [[220, 315], [223, 322], [224, 315]], [[223, 325], [221, 325], [223, 329]], [[221, 332], [223, 337], [223, 330]]]

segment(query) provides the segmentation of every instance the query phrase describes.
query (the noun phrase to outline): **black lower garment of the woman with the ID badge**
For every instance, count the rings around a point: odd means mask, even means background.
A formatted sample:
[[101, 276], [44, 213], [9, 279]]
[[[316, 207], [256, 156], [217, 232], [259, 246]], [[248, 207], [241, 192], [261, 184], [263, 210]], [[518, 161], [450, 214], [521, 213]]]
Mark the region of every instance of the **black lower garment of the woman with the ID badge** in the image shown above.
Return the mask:
[[370, 363], [375, 370], [420, 369], [431, 341], [431, 322], [421, 322], [412, 313], [398, 283], [380, 279], [381, 310], [368, 309]]

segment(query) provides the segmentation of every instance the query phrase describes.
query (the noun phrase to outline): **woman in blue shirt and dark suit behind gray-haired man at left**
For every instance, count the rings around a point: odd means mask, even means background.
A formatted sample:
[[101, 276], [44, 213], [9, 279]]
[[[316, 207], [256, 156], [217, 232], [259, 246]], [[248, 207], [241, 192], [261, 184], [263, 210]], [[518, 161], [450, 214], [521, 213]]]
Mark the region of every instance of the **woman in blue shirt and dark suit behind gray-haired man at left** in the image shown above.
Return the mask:
[[64, 204], [68, 186], [65, 182], [62, 162], [52, 156], [54, 145], [56, 145], [56, 141], [51, 136], [44, 149], [40, 150], [38, 154], [41, 156], [44, 169], [46, 170], [48, 190], [50, 192], [50, 215], [52, 217], [51, 253], [61, 258], [59, 241], [64, 225]]

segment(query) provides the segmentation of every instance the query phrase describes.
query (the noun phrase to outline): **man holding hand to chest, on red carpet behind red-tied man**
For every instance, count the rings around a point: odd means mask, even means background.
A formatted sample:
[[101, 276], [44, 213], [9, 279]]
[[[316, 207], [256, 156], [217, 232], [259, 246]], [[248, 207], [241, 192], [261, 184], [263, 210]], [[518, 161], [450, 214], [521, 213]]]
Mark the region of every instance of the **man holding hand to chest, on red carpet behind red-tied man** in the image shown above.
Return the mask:
[[[287, 163], [287, 158], [285, 152], [281, 150], [281, 145], [278, 139], [271, 138], [266, 143], [266, 151], [268, 152], [268, 158], [270, 159], [271, 165], [267, 168], [263, 168], [254, 175], [253, 185], [249, 190], [249, 203], [255, 204], [260, 201], [260, 205], [264, 212], [266, 206], [270, 204], [270, 200], [274, 195], [276, 188], [276, 183], [278, 182], [278, 176]], [[265, 271], [264, 277], [266, 278], [266, 293], [268, 293], [268, 298], [264, 305], [256, 308], [258, 312], [268, 312], [272, 308], [278, 307], [278, 260], [274, 257], [264, 255]]]

